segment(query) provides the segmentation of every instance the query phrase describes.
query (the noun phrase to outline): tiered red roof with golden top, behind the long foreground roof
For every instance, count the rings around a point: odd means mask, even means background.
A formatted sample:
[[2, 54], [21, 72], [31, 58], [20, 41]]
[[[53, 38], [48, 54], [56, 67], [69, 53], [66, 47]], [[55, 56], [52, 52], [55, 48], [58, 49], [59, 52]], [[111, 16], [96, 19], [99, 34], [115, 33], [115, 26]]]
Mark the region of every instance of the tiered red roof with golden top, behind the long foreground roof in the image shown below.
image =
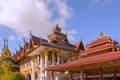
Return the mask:
[[112, 40], [107, 35], [101, 33], [100, 36], [91, 43], [86, 45], [85, 51], [81, 53], [81, 55], [98, 55], [103, 54], [104, 52], [110, 52], [112, 49], [117, 48], [118, 42]]

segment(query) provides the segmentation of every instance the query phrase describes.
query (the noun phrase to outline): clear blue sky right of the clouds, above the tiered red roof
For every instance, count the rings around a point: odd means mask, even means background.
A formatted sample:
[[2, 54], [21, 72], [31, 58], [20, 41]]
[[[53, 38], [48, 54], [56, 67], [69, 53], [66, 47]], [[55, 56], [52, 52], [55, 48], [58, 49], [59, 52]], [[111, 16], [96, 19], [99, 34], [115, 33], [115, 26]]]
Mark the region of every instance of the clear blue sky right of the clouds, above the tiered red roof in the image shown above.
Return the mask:
[[85, 43], [90, 42], [92, 39], [96, 39], [100, 32], [108, 34], [113, 39], [120, 40], [120, 1], [104, 1], [105, 0], [69, 1], [69, 5], [72, 6], [74, 13], [69, 25], [77, 29], [76, 40], [82, 36]]

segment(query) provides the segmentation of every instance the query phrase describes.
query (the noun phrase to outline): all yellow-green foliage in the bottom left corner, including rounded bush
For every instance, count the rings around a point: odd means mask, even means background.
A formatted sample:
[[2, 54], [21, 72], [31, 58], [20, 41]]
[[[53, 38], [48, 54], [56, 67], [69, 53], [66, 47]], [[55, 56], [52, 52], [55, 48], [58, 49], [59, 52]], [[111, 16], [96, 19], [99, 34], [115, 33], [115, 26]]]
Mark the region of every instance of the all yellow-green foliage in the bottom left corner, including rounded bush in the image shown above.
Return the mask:
[[26, 80], [20, 72], [12, 72], [9, 62], [0, 59], [0, 80]]

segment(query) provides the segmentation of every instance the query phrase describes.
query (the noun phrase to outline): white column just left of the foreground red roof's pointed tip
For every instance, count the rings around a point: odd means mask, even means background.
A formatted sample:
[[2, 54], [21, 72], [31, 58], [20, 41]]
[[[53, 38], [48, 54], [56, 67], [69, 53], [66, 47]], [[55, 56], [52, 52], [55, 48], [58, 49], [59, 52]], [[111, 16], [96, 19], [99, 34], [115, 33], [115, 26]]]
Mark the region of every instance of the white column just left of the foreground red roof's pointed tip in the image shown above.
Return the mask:
[[40, 52], [40, 80], [44, 80], [44, 53]]

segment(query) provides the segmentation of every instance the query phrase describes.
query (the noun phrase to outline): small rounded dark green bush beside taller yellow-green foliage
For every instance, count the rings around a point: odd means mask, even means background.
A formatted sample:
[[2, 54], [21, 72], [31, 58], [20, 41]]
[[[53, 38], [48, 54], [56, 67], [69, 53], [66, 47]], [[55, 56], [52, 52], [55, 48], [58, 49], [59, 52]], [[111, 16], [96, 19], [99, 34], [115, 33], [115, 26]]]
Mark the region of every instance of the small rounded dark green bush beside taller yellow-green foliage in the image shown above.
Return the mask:
[[14, 72], [10, 76], [9, 80], [26, 80], [26, 79], [25, 79], [25, 76], [20, 72]]

